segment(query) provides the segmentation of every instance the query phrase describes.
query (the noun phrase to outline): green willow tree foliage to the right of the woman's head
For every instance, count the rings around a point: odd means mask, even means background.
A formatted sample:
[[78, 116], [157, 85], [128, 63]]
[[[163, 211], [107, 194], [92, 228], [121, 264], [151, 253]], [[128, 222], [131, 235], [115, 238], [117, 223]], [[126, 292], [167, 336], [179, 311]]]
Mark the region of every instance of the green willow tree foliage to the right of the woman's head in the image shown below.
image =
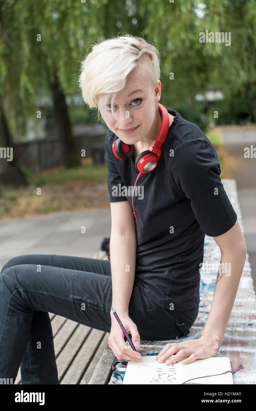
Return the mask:
[[[223, 122], [229, 122], [226, 113], [242, 104], [256, 121], [256, 2], [142, 0], [136, 14], [140, 20], [148, 16], [144, 37], [161, 52], [164, 104], [193, 121], [202, 109], [195, 95], [220, 90], [224, 100], [216, 102], [216, 108]], [[231, 32], [230, 46], [200, 43], [199, 33], [206, 30]]]

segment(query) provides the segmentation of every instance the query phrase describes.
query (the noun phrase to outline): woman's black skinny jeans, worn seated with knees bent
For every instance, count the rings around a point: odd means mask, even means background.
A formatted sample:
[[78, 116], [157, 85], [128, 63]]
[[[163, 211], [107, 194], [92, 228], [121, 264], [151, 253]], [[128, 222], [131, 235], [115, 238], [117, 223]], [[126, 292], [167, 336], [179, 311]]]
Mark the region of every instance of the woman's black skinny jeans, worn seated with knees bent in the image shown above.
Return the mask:
[[[109, 260], [48, 254], [10, 259], [0, 273], [0, 378], [14, 383], [21, 366], [22, 384], [59, 384], [48, 312], [110, 332], [111, 304]], [[187, 335], [197, 314], [198, 307], [162, 309], [133, 286], [129, 316], [141, 339]]]

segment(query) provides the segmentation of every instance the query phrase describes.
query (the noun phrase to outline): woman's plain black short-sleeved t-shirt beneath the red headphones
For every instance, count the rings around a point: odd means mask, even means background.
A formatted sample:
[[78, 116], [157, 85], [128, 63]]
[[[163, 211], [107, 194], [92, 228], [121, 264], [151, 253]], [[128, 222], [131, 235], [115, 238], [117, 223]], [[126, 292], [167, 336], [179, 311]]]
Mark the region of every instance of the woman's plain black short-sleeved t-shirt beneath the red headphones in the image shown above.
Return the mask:
[[[162, 156], [153, 171], [138, 178], [140, 188], [133, 200], [137, 218], [134, 281], [160, 307], [186, 310], [199, 306], [205, 234], [226, 233], [237, 215], [219, 177], [212, 143], [197, 125], [175, 110], [167, 111], [175, 118], [161, 147]], [[114, 156], [116, 139], [108, 130], [110, 202], [128, 200], [132, 208], [133, 189], [129, 187], [134, 187], [139, 171], [133, 157], [122, 161]]]

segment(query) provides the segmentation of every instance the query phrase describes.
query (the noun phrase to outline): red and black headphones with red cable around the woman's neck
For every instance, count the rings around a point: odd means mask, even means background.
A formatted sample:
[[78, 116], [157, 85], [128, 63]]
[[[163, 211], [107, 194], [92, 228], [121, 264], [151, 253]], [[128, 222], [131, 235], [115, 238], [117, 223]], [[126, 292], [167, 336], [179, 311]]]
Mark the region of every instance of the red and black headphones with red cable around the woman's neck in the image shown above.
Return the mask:
[[[139, 171], [139, 175], [137, 176], [137, 179], [136, 179], [136, 182], [133, 188], [133, 194], [134, 194], [135, 186], [136, 186], [139, 176], [144, 173], [149, 173], [150, 171], [153, 171], [155, 167], [158, 165], [159, 159], [162, 155], [161, 146], [165, 142], [167, 134], [168, 134], [168, 130], [169, 130], [169, 114], [168, 114], [167, 109], [162, 104], [158, 103], [158, 108], [160, 109], [160, 112], [162, 115], [162, 124], [160, 126], [157, 139], [155, 143], [153, 144], [153, 146], [150, 147], [149, 150], [146, 150], [140, 153], [135, 160], [135, 166], [137, 170]], [[123, 143], [123, 141], [121, 141], [118, 138], [117, 140], [113, 142], [112, 150], [113, 150], [114, 155], [119, 160], [127, 160], [133, 156], [134, 147], [133, 147], [133, 144]], [[133, 207], [133, 215], [135, 217], [135, 223], [137, 225], [134, 207]]]

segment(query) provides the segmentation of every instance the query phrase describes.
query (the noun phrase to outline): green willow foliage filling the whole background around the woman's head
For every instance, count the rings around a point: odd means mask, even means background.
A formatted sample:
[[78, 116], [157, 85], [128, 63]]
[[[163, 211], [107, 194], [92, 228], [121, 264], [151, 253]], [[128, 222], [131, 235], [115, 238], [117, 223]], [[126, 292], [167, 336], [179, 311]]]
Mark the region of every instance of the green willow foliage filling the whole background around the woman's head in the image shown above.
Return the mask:
[[[36, 118], [41, 90], [50, 95], [55, 70], [64, 93], [77, 93], [80, 61], [90, 46], [121, 33], [141, 35], [159, 49], [162, 104], [205, 129], [213, 118], [210, 111], [202, 115], [195, 95], [221, 90], [217, 123], [256, 121], [255, 1], [8, 0], [0, 21], [0, 94], [12, 131], [24, 134], [27, 117]], [[231, 32], [231, 45], [199, 43], [206, 30]], [[70, 113], [73, 124], [96, 120], [86, 106], [71, 106]]]

